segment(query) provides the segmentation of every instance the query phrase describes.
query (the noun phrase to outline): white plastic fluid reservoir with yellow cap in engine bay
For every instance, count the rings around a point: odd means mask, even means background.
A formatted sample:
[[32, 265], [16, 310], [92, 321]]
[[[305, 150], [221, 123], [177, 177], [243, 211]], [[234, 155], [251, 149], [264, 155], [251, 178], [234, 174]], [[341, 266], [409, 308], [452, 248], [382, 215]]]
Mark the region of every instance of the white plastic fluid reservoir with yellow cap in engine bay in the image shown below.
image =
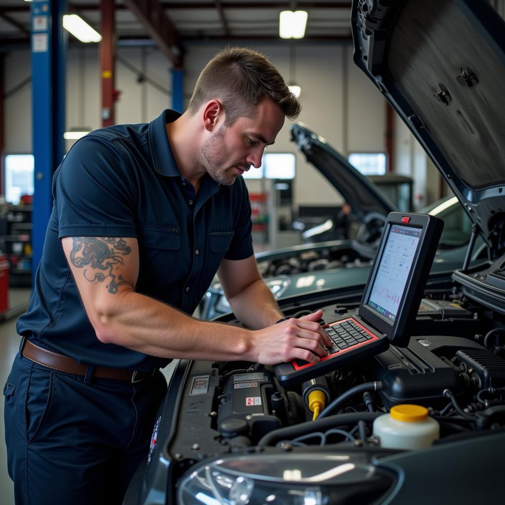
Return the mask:
[[396, 405], [389, 414], [374, 421], [374, 437], [381, 447], [390, 449], [424, 449], [440, 436], [438, 422], [428, 417], [428, 409], [420, 405]]

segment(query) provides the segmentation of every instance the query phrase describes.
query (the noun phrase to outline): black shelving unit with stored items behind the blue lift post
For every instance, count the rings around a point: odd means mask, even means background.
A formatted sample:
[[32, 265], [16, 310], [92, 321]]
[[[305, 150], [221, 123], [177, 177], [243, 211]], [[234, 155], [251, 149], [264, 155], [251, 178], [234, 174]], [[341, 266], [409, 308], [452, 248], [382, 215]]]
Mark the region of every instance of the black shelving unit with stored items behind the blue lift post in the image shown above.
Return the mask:
[[10, 263], [9, 286], [30, 287], [32, 284], [32, 206], [10, 205], [0, 219], [0, 248]]

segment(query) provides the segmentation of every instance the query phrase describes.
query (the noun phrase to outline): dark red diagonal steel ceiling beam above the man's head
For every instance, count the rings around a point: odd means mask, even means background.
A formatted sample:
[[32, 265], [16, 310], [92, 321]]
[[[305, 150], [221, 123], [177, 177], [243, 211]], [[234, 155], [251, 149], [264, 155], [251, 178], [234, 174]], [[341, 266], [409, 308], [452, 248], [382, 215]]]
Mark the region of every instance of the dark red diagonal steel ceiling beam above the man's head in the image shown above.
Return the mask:
[[174, 68], [181, 68], [179, 34], [161, 3], [158, 0], [123, 0], [123, 3], [137, 16]]

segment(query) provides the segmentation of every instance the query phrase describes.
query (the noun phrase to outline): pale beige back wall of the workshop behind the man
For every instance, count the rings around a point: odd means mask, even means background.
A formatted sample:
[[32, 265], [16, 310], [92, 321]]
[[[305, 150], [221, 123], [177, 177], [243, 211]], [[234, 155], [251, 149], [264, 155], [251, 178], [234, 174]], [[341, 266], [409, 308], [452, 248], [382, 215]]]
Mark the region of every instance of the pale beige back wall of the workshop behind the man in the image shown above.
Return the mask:
[[[304, 122], [335, 148], [349, 151], [384, 151], [385, 100], [375, 86], [352, 62], [349, 44], [256, 45], [278, 68], [286, 81], [301, 86]], [[220, 49], [219, 44], [194, 44], [185, 55], [185, 105], [189, 101], [200, 70]], [[116, 88], [121, 91], [116, 107], [117, 123], [150, 121], [171, 105], [171, 65], [154, 47], [119, 47], [116, 63]], [[30, 75], [28, 51], [16, 51], [6, 59], [6, 90]], [[291, 58], [291, 60], [290, 60]], [[143, 73], [148, 80], [142, 81]], [[100, 81], [98, 48], [72, 47], [67, 64], [67, 129], [99, 128]], [[5, 100], [6, 152], [31, 152], [31, 86]], [[286, 120], [272, 152], [296, 153], [294, 204], [339, 205], [324, 178], [297, 153], [289, 141], [291, 121]], [[67, 150], [72, 142], [67, 141]], [[261, 190], [258, 181], [248, 181], [251, 192]]]

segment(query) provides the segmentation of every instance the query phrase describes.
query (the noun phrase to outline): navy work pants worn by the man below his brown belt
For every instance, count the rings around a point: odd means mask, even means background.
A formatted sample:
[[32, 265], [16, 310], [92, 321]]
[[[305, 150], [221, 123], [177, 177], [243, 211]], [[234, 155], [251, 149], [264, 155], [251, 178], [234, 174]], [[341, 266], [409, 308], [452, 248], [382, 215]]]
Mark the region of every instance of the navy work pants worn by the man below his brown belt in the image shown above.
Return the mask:
[[160, 372], [137, 383], [88, 381], [18, 354], [4, 388], [16, 504], [122, 503], [166, 388]]

